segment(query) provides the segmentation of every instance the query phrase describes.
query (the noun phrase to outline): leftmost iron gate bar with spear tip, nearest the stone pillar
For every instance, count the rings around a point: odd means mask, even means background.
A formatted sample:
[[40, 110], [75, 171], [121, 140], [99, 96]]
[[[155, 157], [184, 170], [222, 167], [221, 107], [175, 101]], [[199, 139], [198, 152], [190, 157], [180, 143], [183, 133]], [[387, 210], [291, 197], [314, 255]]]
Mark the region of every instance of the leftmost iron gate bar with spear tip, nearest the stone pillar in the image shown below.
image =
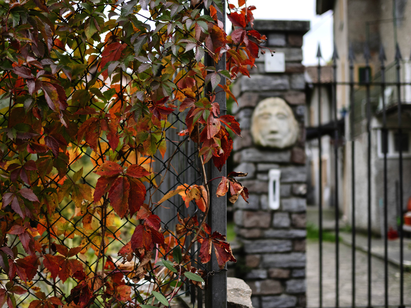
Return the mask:
[[[318, 82], [321, 84], [321, 50], [318, 45]], [[319, 197], [318, 197], [318, 219], [319, 219], [319, 306], [323, 307], [323, 193], [322, 193], [322, 150], [321, 150], [321, 86], [318, 87], [318, 165], [319, 165]]]

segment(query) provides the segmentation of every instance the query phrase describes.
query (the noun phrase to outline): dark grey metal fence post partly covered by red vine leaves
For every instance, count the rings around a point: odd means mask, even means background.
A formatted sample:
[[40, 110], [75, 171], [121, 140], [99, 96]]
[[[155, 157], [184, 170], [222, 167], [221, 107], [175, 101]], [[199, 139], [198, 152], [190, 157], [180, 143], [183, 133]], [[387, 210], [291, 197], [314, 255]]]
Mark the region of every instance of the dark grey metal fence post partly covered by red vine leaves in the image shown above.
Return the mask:
[[[222, 21], [224, 28], [225, 22], [225, 0], [222, 0], [223, 11], [220, 14], [217, 11], [217, 17], [219, 21]], [[208, 60], [211, 60], [208, 57]], [[212, 61], [212, 60], [211, 60]], [[222, 55], [221, 59], [216, 64], [217, 71], [219, 69], [226, 69], [226, 55]], [[221, 85], [225, 85], [225, 78], [221, 78]], [[216, 94], [215, 100], [220, 105], [221, 115], [226, 114], [226, 93], [219, 91]], [[217, 170], [212, 162], [208, 164], [209, 167], [209, 179], [215, 177], [221, 177], [227, 175], [226, 165], [223, 166], [221, 172]], [[215, 179], [209, 184], [210, 188], [210, 210], [208, 212], [208, 224], [210, 225], [212, 232], [217, 231], [221, 234], [227, 234], [227, 199], [226, 197], [219, 197], [215, 194], [219, 179]], [[225, 308], [227, 307], [227, 271], [220, 271], [217, 258], [215, 257], [214, 248], [211, 253], [211, 262], [208, 267], [210, 275], [208, 276], [208, 285], [205, 290], [205, 307], [206, 308]], [[227, 267], [227, 265], [226, 265]]]

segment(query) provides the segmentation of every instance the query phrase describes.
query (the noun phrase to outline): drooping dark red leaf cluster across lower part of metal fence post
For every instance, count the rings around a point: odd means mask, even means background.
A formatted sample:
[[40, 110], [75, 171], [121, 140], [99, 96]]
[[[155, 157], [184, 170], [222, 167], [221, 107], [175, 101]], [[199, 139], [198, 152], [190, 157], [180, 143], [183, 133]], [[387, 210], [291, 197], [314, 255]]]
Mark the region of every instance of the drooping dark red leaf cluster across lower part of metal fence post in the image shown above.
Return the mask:
[[203, 243], [201, 243], [199, 253], [201, 263], [204, 264], [211, 260], [211, 245], [214, 246], [214, 252], [220, 269], [223, 269], [228, 261], [237, 262], [231, 251], [230, 244], [225, 241], [226, 236], [217, 231], [211, 235], [211, 228], [206, 223], [203, 224], [203, 228], [209, 237], [207, 239], [203, 239]]

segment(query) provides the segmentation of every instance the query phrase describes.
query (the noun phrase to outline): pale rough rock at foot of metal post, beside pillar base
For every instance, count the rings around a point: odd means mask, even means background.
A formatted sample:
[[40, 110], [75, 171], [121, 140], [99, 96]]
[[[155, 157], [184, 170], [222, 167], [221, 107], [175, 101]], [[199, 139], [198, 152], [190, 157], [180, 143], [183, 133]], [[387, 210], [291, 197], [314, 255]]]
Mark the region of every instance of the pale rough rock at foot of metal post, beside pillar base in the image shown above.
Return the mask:
[[244, 280], [227, 278], [227, 308], [253, 308], [251, 292]]

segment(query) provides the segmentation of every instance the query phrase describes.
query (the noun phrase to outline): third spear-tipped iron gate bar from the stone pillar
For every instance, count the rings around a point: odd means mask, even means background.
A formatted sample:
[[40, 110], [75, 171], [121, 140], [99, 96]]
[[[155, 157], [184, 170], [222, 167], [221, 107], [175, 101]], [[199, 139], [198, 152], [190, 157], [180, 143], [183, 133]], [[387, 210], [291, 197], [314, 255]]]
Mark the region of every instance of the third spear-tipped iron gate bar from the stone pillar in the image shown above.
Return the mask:
[[350, 127], [351, 127], [351, 303], [356, 306], [356, 198], [355, 198], [355, 140], [354, 140], [354, 51], [353, 46], [349, 50], [350, 63]]

